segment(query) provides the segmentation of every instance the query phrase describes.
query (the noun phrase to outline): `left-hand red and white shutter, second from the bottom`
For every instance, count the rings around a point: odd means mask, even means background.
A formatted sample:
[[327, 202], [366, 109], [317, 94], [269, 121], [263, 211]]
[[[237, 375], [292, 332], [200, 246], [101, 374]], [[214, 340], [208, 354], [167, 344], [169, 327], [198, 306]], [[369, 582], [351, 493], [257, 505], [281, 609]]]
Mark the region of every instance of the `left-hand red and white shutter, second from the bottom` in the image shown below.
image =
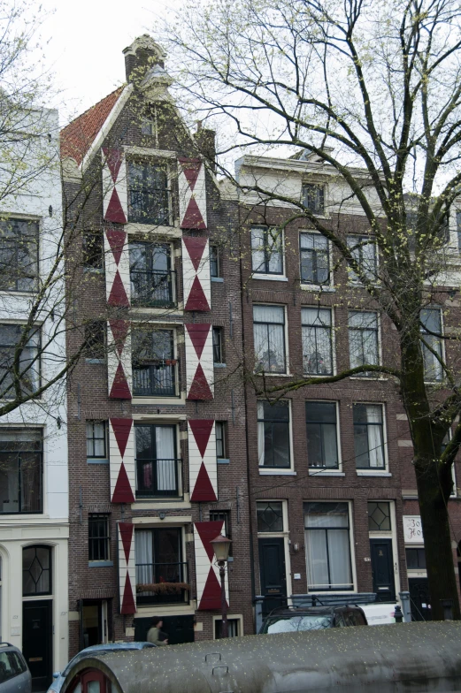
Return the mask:
[[133, 419], [109, 419], [111, 503], [134, 503], [136, 488]]

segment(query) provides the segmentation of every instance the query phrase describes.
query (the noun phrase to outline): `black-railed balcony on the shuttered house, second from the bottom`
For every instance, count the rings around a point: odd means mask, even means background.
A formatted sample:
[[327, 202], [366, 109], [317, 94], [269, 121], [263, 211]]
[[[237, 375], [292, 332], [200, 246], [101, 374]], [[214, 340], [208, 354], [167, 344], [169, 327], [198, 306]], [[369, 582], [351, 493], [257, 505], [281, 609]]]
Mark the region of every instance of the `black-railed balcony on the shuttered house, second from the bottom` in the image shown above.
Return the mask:
[[182, 498], [182, 460], [136, 460], [136, 498]]

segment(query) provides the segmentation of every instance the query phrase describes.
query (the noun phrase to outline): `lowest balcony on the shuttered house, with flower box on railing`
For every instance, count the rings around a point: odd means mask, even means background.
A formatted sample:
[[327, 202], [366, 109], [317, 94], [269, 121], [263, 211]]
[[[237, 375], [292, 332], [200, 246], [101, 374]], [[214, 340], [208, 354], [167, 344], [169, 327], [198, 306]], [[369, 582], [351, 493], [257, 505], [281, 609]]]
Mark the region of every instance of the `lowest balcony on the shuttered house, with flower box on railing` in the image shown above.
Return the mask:
[[136, 563], [136, 602], [188, 604], [187, 563]]

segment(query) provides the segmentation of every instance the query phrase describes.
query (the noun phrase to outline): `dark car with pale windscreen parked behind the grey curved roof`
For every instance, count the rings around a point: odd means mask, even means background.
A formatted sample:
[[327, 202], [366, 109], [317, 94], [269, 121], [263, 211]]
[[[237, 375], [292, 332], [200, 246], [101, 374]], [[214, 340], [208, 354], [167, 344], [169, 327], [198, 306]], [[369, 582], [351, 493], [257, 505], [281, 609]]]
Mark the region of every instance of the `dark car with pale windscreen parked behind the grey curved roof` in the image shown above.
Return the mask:
[[259, 634], [296, 633], [296, 631], [367, 626], [359, 606], [306, 606], [274, 609], [263, 621]]

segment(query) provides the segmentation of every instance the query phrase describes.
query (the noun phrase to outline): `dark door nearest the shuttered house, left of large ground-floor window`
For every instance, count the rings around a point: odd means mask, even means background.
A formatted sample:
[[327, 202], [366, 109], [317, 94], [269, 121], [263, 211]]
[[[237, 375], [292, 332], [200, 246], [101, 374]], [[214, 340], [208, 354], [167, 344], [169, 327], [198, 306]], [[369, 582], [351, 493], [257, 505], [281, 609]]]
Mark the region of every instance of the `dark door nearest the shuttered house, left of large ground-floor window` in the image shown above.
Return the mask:
[[267, 538], [259, 539], [258, 545], [263, 614], [267, 614], [287, 604], [285, 544], [282, 538]]

